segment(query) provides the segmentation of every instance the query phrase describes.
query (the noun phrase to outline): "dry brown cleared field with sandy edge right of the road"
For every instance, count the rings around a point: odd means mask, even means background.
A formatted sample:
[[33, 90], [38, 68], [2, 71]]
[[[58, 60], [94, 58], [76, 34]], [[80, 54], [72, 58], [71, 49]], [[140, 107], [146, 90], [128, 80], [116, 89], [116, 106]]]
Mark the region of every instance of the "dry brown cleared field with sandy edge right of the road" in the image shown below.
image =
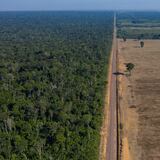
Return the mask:
[[119, 40], [121, 160], [160, 160], [160, 41]]

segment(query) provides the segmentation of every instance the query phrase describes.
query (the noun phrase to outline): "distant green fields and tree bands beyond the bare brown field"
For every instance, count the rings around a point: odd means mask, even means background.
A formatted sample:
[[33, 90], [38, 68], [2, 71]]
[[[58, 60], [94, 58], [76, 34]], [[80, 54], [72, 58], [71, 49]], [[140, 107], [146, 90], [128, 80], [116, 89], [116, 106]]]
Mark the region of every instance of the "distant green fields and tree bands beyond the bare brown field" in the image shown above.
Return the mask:
[[118, 38], [160, 39], [160, 12], [118, 12]]

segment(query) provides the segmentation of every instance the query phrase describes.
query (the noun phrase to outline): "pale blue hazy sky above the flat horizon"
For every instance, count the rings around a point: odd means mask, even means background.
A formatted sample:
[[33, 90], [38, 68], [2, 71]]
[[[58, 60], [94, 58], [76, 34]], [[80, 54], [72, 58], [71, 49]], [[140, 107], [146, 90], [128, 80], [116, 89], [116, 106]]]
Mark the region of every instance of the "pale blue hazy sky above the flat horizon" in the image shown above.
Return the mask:
[[158, 10], [160, 0], [0, 0], [8, 10]]

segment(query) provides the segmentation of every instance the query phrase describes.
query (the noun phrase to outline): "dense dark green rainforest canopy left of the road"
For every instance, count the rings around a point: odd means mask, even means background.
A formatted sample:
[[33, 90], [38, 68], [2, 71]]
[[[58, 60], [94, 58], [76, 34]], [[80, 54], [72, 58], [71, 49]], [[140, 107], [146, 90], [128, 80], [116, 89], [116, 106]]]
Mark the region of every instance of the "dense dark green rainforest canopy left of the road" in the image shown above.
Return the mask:
[[0, 160], [98, 159], [112, 12], [0, 12]]

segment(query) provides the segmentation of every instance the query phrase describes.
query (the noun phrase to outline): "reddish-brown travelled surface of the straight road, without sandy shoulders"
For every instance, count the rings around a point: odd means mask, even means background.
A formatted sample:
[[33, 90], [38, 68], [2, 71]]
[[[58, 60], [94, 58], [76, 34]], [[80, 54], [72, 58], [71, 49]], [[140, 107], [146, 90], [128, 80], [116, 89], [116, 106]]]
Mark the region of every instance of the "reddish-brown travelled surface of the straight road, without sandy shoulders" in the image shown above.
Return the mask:
[[109, 85], [109, 124], [107, 139], [107, 160], [117, 160], [117, 29], [116, 14], [114, 16], [114, 35], [111, 53], [111, 71]]

